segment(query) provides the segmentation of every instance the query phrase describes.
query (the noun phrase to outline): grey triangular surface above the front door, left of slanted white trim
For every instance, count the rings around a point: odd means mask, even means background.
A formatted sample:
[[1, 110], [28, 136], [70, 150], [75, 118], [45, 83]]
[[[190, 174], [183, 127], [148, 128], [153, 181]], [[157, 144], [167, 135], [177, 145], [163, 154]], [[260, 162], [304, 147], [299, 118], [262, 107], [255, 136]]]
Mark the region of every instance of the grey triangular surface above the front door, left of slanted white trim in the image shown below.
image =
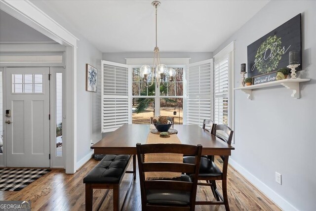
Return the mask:
[[0, 42], [54, 42], [8, 13], [0, 10]]

